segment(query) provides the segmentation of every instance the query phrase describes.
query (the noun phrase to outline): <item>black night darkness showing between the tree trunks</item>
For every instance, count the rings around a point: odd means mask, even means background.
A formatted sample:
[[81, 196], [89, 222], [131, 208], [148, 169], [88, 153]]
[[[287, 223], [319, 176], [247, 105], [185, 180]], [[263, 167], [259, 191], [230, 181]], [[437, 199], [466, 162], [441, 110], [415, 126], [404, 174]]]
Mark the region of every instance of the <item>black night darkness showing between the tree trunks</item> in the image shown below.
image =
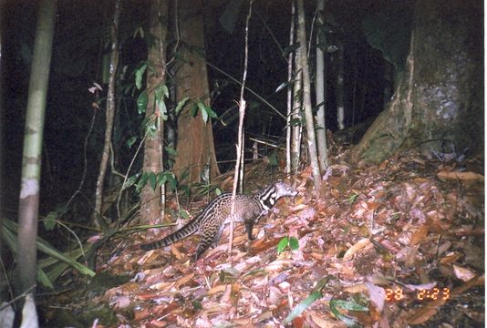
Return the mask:
[[[205, 56], [209, 63], [221, 68], [240, 80], [244, 70], [244, 20], [246, 2], [235, 18], [230, 34], [219, 23], [226, 1], [207, 1], [205, 5]], [[309, 35], [315, 14], [315, 2], [306, 2], [306, 24]], [[384, 79], [385, 69], [390, 66], [381, 52], [370, 46], [362, 27], [364, 19], [390, 10], [401, 10], [409, 2], [381, 1], [327, 1], [326, 13], [332, 25], [326, 34], [330, 45], [337, 40], [345, 46], [345, 105], [346, 125], [373, 119], [384, 106], [384, 89], [390, 81]], [[134, 30], [147, 28], [149, 14], [147, 1], [126, 1], [120, 21], [121, 65], [127, 66], [121, 85], [133, 83], [133, 70], [147, 57], [146, 42], [133, 37]], [[100, 76], [101, 58], [108, 52], [109, 22], [113, 2], [59, 1], [57, 8], [56, 34], [54, 37], [51, 76], [47, 97], [46, 127], [44, 135], [41, 214], [65, 203], [78, 188], [84, 168], [84, 142], [94, 111], [97, 111], [95, 126], [88, 139], [88, 176], [84, 188], [84, 205], [92, 200], [98, 163], [103, 145], [105, 127], [104, 102], [101, 109], [94, 109], [97, 98], [88, 92], [93, 82], [105, 87], [100, 97], [105, 97], [106, 85]], [[407, 10], [404, 15], [411, 16]], [[2, 113], [2, 160], [4, 163], [4, 202], [8, 216], [15, 217], [20, 185], [22, 143], [28, 91], [28, 78], [32, 47], [36, 32], [36, 5], [34, 2], [7, 1], [4, 24], [4, 112]], [[286, 91], [275, 92], [287, 79], [286, 56], [276, 46], [269, 28], [282, 48], [288, 45], [291, 19], [290, 1], [256, 1], [249, 32], [249, 65], [247, 86], [272, 103], [283, 114], [286, 111]], [[265, 24], [264, 24], [265, 23]], [[265, 26], [267, 25], [267, 26]], [[409, 31], [406, 31], [409, 33]], [[314, 39], [316, 26], [314, 27]], [[100, 46], [101, 45], [101, 46]], [[315, 65], [315, 47], [310, 53], [310, 62]], [[337, 79], [336, 53], [326, 55], [326, 124], [337, 130], [335, 86]], [[120, 67], [121, 69], [121, 67]], [[212, 90], [212, 108], [227, 124], [213, 121], [213, 135], [218, 160], [234, 157], [237, 130], [235, 100], [240, 95], [240, 86], [208, 67]], [[285, 120], [277, 116], [260, 100], [246, 93], [249, 104], [246, 114], [248, 136], [275, 137], [283, 143]], [[140, 116], [130, 93], [119, 93], [119, 108], [116, 120], [119, 128], [114, 132], [114, 146], [118, 146], [119, 166], [125, 170], [133, 156], [125, 142], [138, 130]], [[232, 109], [233, 108], [233, 109]], [[247, 141], [247, 147], [250, 142]], [[231, 169], [222, 164], [221, 169]], [[80, 210], [87, 214], [88, 211]], [[88, 215], [88, 214], [87, 214]], [[81, 219], [82, 218], [78, 218]]]

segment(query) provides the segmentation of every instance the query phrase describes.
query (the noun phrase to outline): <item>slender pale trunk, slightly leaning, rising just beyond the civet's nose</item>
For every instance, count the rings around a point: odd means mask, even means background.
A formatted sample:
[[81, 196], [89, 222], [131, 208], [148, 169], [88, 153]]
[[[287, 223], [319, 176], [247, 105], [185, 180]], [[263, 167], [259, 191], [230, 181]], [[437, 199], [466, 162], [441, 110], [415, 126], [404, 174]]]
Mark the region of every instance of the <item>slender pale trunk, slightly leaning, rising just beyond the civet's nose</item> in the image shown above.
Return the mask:
[[315, 193], [320, 190], [321, 174], [319, 171], [318, 154], [316, 151], [315, 119], [311, 110], [311, 79], [307, 64], [306, 51], [306, 22], [304, 0], [297, 0], [297, 16], [299, 21], [299, 44], [301, 67], [303, 68], [303, 103], [305, 105], [306, 135], [311, 169], [313, 170], [313, 182]]

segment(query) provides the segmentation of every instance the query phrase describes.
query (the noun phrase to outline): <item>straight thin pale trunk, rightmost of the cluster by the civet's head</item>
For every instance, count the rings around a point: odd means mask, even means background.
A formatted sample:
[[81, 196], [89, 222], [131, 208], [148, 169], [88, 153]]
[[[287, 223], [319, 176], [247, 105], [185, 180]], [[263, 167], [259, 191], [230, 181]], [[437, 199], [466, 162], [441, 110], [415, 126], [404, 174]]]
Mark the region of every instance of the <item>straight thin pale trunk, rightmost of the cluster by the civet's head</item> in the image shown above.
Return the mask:
[[[322, 15], [325, 10], [325, 0], [317, 0], [318, 19], [321, 23], [324, 23]], [[319, 33], [316, 34], [316, 45], [319, 45], [320, 41], [326, 45], [326, 39], [320, 40]], [[323, 33], [325, 36], [325, 33]], [[326, 108], [326, 66], [325, 66], [325, 53], [316, 46], [316, 104], [321, 104], [316, 112], [316, 139], [318, 142], [318, 155], [319, 166], [325, 170], [328, 167], [328, 149], [326, 148], [326, 120], [325, 120], [325, 108]]]

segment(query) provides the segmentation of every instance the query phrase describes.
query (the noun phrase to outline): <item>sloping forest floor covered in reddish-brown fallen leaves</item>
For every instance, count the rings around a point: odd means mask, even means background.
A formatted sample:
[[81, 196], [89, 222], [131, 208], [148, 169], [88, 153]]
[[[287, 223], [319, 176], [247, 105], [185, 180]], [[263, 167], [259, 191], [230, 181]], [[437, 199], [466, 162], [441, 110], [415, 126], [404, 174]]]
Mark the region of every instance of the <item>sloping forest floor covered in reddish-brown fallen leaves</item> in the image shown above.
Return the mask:
[[[289, 179], [299, 195], [255, 225], [256, 241], [237, 225], [231, 258], [226, 232], [196, 263], [198, 236], [140, 251], [171, 228], [113, 239], [95, 279], [40, 304], [46, 326], [483, 327], [483, 159], [372, 166], [337, 154], [319, 198], [305, 169]], [[257, 167], [247, 180], [275, 179]]]

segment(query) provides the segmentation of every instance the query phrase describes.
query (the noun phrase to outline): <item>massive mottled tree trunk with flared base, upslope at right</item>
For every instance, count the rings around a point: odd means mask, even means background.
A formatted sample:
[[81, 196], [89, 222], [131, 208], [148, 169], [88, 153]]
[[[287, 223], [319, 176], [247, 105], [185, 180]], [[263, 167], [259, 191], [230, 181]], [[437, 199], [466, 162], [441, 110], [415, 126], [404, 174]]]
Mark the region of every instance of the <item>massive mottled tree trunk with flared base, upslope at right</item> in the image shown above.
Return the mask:
[[[357, 145], [359, 158], [398, 149], [483, 149], [482, 2], [417, 1], [409, 56], [388, 107]], [[444, 146], [447, 148], [445, 149]]]

